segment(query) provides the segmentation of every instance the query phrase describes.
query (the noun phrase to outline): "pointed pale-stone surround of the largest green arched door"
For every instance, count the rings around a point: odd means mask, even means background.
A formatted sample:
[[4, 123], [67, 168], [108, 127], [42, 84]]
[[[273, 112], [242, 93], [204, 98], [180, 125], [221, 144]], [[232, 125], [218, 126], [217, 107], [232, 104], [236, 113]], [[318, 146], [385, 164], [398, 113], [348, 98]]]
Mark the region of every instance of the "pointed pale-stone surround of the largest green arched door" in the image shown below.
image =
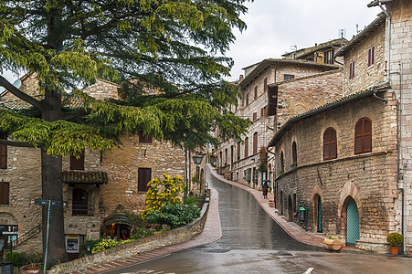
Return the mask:
[[[347, 182], [344, 184], [339, 197], [338, 204], [338, 227], [340, 227], [342, 239], [346, 241], [347, 236], [347, 207], [349, 204], [354, 204], [357, 207], [358, 218], [359, 218], [359, 229], [362, 225], [362, 203], [361, 195], [359, 194], [356, 185], [353, 182]], [[352, 205], [353, 206], [353, 205]], [[346, 243], [346, 242], [345, 242]]]

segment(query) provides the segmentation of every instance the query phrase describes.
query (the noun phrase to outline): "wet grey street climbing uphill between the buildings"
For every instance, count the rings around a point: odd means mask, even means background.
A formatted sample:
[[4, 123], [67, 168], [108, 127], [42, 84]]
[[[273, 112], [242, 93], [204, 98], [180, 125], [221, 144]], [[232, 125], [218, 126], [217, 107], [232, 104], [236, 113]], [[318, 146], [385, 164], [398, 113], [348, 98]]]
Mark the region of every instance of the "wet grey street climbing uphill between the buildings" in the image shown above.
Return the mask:
[[247, 191], [220, 182], [210, 172], [207, 182], [219, 194], [223, 237], [106, 273], [410, 273], [412, 269], [411, 258], [332, 253], [302, 244]]

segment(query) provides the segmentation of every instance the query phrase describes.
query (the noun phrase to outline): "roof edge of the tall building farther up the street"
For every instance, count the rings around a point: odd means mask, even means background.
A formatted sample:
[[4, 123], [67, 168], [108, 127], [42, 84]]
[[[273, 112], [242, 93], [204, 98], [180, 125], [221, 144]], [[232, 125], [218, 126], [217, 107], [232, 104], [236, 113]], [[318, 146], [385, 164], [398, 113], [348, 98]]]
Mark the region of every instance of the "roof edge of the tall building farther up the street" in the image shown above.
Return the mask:
[[[270, 65], [298, 65], [298, 66], [306, 66], [306, 67], [317, 67], [317, 68], [322, 68], [322, 69], [327, 69], [327, 70], [333, 70], [336, 68], [339, 68], [339, 66], [335, 65], [329, 65], [329, 64], [317, 64], [312, 61], [307, 61], [307, 60], [301, 60], [301, 59], [264, 59], [260, 63], [256, 64], [256, 68], [253, 68], [253, 70], [246, 76], [245, 79], [240, 81], [238, 84], [240, 88], [244, 88], [248, 85], [248, 83], [252, 80], [255, 79], [255, 77], [259, 76], [260, 72], [264, 70], [265, 68], [269, 67]], [[250, 68], [252, 66], [249, 66], [247, 68]]]

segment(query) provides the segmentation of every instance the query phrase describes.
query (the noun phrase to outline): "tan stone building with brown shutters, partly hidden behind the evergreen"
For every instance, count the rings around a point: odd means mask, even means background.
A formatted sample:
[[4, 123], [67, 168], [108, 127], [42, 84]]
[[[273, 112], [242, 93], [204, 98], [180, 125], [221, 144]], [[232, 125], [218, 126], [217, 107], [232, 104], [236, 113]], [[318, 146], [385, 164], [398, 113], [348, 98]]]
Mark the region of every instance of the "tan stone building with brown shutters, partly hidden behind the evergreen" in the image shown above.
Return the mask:
[[[20, 90], [41, 98], [37, 78], [27, 74]], [[84, 91], [99, 100], [119, 99], [119, 86], [98, 79]], [[71, 107], [79, 99], [68, 97]], [[24, 109], [27, 104], [5, 91], [0, 108]], [[5, 140], [6, 136], [0, 136]], [[40, 151], [29, 145], [1, 143], [0, 226], [18, 231], [18, 237], [0, 236], [2, 250], [10, 244], [26, 252], [37, 252], [41, 244]], [[190, 164], [189, 164], [190, 163]], [[190, 172], [189, 172], [190, 166]], [[79, 246], [87, 239], [130, 237], [132, 222], [126, 213], [139, 214], [145, 208], [147, 183], [163, 174], [183, 178], [195, 176], [202, 184], [191, 185], [195, 195], [205, 193], [206, 157], [196, 166], [192, 157], [170, 142], [159, 142], [143, 135], [122, 136], [121, 145], [111, 152], [86, 150], [79, 159], [63, 158], [63, 206], [69, 258], [76, 258]]]

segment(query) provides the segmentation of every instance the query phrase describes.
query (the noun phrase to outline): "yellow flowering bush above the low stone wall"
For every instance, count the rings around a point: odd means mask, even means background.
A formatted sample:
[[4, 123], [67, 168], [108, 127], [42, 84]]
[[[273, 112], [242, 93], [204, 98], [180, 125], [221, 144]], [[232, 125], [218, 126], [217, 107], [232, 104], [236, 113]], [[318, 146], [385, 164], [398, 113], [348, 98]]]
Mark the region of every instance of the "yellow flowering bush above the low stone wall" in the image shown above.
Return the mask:
[[149, 211], [158, 211], [163, 205], [182, 204], [181, 195], [185, 184], [181, 176], [171, 177], [164, 174], [163, 180], [153, 179], [148, 183], [146, 192], [146, 209], [143, 216]]

